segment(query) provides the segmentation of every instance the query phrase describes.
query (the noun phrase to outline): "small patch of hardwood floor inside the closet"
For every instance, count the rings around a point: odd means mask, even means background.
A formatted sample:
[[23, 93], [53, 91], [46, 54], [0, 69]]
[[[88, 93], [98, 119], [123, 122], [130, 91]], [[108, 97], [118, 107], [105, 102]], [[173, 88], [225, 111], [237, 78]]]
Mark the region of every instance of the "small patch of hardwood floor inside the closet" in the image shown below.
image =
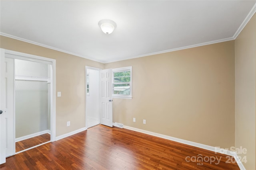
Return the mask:
[[16, 142], [16, 152], [19, 152], [24, 149], [28, 149], [30, 147], [34, 147], [36, 145], [48, 142], [51, 140], [51, 135], [49, 133], [45, 133], [43, 135], [39, 135], [36, 137], [32, 137], [29, 139], [25, 139], [23, 141]]

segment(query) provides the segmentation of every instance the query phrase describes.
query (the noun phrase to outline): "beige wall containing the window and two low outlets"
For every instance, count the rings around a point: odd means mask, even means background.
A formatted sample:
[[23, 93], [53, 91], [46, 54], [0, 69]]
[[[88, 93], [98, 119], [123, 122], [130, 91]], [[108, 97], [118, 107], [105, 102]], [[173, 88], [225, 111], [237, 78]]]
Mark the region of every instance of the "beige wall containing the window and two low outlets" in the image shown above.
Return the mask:
[[133, 98], [114, 99], [114, 122], [214, 147], [234, 146], [234, 41], [105, 64], [124, 66], [132, 66]]

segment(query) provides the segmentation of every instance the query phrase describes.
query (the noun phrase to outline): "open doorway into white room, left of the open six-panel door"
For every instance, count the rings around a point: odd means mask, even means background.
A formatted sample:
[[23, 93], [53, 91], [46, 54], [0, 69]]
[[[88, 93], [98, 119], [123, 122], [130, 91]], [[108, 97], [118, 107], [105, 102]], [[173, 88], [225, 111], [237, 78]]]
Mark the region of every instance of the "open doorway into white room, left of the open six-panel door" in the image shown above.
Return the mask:
[[86, 127], [100, 124], [100, 68], [86, 66]]

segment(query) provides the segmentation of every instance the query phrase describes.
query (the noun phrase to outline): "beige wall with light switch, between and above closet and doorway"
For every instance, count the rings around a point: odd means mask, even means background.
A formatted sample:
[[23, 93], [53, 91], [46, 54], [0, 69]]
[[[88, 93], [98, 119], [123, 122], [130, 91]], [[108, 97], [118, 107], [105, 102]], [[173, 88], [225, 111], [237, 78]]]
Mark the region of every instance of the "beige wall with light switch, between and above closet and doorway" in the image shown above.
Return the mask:
[[56, 136], [85, 127], [85, 66], [104, 68], [104, 64], [4, 36], [0, 47], [56, 59], [56, 92], [62, 95], [56, 98]]

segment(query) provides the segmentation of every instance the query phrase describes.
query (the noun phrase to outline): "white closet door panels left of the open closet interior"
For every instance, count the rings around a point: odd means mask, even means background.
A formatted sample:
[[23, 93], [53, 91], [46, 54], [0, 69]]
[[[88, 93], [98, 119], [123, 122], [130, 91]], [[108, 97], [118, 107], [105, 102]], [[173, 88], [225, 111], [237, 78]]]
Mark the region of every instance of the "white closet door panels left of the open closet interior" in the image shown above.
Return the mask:
[[[14, 143], [14, 59], [1, 55], [1, 163], [15, 153]], [[2, 65], [4, 61], [4, 65]], [[4, 69], [2, 69], [4, 68]]]

